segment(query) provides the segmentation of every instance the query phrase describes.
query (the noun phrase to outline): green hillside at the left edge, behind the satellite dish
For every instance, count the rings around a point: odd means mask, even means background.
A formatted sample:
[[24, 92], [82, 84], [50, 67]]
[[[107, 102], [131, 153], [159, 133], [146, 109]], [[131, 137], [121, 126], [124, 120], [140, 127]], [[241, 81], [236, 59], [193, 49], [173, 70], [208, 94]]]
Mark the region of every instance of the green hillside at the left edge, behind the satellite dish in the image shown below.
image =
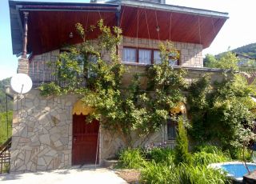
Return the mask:
[[[5, 78], [0, 81], [0, 113], [6, 112], [6, 88], [10, 86], [10, 78]], [[13, 110], [13, 100], [8, 97], [8, 110]]]

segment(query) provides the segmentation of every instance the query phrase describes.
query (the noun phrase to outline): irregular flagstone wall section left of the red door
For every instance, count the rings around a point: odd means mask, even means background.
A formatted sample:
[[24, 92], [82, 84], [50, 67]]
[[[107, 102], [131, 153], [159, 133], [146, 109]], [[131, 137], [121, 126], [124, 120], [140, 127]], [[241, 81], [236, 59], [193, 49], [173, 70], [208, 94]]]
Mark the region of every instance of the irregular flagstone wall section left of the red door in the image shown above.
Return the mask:
[[38, 90], [14, 96], [11, 172], [71, 166], [72, 108], [77, 98], [43, 98]]

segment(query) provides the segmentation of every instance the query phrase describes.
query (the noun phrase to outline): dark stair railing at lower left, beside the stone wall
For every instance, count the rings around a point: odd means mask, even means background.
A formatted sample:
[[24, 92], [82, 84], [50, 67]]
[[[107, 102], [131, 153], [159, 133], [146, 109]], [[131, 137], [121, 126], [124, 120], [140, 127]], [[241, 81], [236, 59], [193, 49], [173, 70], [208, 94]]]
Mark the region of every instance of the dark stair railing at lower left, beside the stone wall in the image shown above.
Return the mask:
[[0, 146], [0, 174], [10, 170], [11, 138]]

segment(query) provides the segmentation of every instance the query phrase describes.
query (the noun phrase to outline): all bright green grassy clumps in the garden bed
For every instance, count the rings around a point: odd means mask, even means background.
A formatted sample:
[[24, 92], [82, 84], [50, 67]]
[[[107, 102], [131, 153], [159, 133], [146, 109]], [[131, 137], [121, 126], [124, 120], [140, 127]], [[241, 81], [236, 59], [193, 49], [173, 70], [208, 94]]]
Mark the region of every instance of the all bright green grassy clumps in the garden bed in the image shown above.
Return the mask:
[[127, 149], [119, 155], [118, 168], [141, 169], [140, 183], [222, 184], [230, 182], [226, 174], [207, 165], [228, 160], [226, 154], [214, 147], [198, 149], [190, 163], [178, 165], [174, 164], [174, 150], [168, 148], [154, 148], [147, 153]]

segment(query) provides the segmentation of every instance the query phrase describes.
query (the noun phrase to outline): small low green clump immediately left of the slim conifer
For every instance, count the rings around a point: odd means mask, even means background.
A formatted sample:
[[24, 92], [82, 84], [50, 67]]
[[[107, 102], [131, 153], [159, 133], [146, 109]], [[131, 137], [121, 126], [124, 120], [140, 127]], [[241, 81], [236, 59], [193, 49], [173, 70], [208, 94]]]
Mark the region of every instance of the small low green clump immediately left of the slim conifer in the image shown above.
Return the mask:
[[170, 148], [153, 148], [147, 153], [148, 158], [156, 163], [172, 163], [174, 162], [174, 150]]

